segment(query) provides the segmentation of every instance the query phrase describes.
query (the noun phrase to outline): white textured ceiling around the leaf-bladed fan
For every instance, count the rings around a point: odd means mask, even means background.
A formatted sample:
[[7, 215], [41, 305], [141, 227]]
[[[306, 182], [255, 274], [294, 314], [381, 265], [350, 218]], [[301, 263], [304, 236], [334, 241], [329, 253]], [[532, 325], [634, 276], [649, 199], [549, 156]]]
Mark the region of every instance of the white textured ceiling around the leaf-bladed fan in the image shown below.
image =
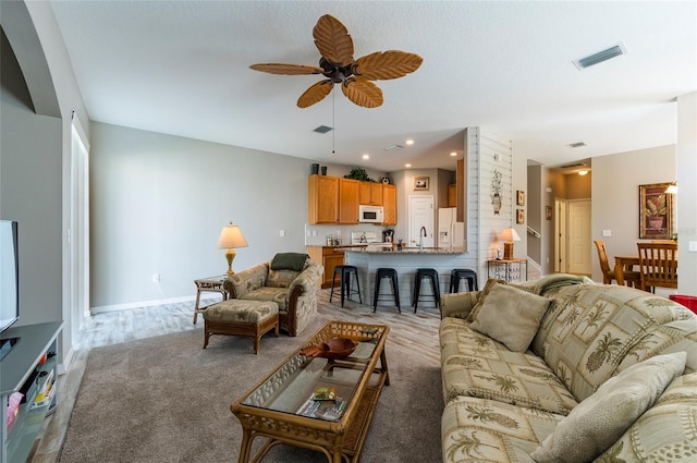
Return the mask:
[[[695, 1], [51, 3], [91, 120], [381, 171], [453, 168], [467, 126], [550, 167], [673, 144], [674, 99], [697, 90]], [[347, 27], [355, 58], [398, 49], [424, 64], [378, 81], [380, 108], [339, 88], [297, 108], [320, 76], [248, 66], [316, 65], [313, 27], [327, 13]], [[617, 42], [627, 54], [572, 64]], [[333, 134], [313, 132], [322, 124]], [[384, 150], [406, 138], [415, 144]]]

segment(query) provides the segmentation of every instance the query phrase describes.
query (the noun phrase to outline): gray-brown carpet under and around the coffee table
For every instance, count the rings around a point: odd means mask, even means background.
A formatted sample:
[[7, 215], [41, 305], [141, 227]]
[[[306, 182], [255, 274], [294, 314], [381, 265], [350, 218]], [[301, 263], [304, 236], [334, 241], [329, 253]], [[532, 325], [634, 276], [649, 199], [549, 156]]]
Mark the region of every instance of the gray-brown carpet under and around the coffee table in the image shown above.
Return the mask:
[[[303, 336], [252, 340], [212, 337], [201, 325], [94, 349], [61, 451], [61, 463], [236, 462], [242, 426], [230, 404], [257, 383], [327, 319]], [[388, 339], [391, 385], [382, 390], [362, 462], [439, 462], [443, 410], [440, 369]], [[257, 446], [262, 439], [256, 439]], [[277, 446], [265, 462], [325, 462], [323, 455]]]

